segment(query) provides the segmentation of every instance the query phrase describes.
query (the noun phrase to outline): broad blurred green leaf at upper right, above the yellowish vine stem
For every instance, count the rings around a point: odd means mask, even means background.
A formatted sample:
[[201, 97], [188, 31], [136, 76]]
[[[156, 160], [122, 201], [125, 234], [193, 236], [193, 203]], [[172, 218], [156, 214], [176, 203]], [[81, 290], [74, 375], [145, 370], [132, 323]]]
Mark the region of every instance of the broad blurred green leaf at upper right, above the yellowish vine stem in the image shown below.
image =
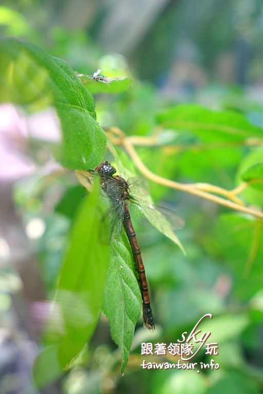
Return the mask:
[[194, 133], [203, 142], [242, 141], [263, 137], [259, 127], [245, 116], [232, 111], [212, 111], [195, 104], [183, 104], [157, 114], [157, 123], [164, 127]]

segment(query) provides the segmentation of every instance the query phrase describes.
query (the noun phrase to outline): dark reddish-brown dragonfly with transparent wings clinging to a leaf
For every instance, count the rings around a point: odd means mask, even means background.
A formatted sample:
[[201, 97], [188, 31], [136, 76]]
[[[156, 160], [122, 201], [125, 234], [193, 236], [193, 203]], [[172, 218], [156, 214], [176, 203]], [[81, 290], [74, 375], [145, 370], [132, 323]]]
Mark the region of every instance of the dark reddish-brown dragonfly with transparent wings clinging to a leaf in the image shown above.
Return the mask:
[[[112, 209], [114, 210], [115, 218], [117, 218], [113, 220], [113, 227], [119, 227], [117, 229], [117, 232], [121, 231], [122, 226], [125, 229], [130, 247], [132, 248], [134, 261], [139, 277], [144, 326], [149, 330], [154, 330], [155, 323], [151, 307], [151, 300], [149, 296], [145, 268], [134, 226], [130, 218], [130, 211], [128, 206], [129, 203], [133, 203], [133, 205], [137, 205], [140, 210], [143, 202], [134, 198], [134, 196], [130, 194], [129, 183], [124, 178], [121, 178], [121, 176], [115, 175], [117, 172], [116, 168], [107, 161], [104, 161], [103, 163], [98, 165], [95, 170], [89, 170], [89, 172], [97, 174], [100, 177], [101, 188], [106, 194], [107, 198], [110, 200]], [[146, 202], [144, 204], [147, 205]], [[155, 209], [153, 205], [148, 206], [148, 211], [153, 209]], [[180, 222], [180, 218], [178, 219], [178, 222]], [[181, 227], [181, 225], [182, 220], [181, 223], [179, 223], [178, 227]]]

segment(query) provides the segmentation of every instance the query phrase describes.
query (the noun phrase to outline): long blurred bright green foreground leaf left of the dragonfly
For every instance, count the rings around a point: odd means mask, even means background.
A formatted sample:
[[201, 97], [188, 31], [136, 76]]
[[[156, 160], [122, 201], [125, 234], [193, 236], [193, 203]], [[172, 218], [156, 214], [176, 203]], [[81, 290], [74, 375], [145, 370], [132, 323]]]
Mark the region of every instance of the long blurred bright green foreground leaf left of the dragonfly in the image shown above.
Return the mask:
[[[102, 215], [97, 183], [75, 216], [58, 283], [56, 313], [46, 332], [56, 327], [55, 319], [60, 314], [61, 324], [55, 334], [59, 338], [57, 361], [61, 369], [90, 340], [98, 322], [109, 262], [109, 229]], [[40, 373], [37, 365], [35, 373]]]

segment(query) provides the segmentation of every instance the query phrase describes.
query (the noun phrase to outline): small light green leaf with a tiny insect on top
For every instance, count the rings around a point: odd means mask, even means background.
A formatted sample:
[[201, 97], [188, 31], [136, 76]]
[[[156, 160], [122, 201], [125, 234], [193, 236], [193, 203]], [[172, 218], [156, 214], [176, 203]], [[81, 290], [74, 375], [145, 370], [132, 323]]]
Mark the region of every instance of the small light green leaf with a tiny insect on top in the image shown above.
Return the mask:
[[96, 93], [121, 93], [130, 87], [132, 81], [128, 77], [107, 78], [108, 83], [95, 81], [88, 76], [81, 76], [80, 81], [92, 94]]

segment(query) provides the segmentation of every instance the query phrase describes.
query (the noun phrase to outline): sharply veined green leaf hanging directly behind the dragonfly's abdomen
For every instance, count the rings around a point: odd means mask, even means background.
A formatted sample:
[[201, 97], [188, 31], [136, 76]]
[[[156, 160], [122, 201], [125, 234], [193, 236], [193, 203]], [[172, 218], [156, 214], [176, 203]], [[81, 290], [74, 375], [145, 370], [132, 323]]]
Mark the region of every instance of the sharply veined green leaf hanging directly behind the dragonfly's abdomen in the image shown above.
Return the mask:
[[103, 310], [109, 319], [111, 337], [121, 351], [123, 372], [142, 310], [142, 299], [126, 234], [123, 232], [119, 239], [112, 240], [110, 246]]

